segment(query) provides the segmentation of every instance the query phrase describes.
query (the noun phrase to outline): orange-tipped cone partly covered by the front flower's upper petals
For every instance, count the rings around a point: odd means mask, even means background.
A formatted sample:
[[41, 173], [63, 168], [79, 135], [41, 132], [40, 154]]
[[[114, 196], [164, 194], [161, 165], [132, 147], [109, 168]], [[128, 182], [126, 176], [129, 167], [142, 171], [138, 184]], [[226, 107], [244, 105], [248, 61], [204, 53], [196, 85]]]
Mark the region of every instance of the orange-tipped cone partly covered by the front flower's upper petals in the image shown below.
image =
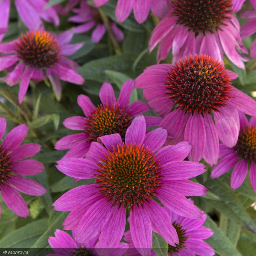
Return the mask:
[[126, 130], [132, 120], [133, 117], [125, 108], [120, 109], [119, 104], [99, 105], [87, 119], [84, 131], [88, 133], [91, 141], [97, 141], [98, 137], [113, 133], [119, 133], [124, 141]]

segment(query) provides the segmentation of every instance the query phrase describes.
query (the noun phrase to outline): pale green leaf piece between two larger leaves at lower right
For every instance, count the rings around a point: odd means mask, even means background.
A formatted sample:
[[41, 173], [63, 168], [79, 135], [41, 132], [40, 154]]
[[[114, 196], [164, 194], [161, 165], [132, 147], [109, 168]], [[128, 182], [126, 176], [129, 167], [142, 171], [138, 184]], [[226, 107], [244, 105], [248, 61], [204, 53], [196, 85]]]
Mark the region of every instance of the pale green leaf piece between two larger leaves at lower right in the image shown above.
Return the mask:
[[224, 232], [224, 234], [234, 244], [234, 246], [237, 246], [237, 242], [238, 242], [238, 239], [240, 237], [240, 232], [241, 232], [241, 225], [237, 224], [230, 218], [221, 214], [219, 226], [220, 226], [221, 230]]

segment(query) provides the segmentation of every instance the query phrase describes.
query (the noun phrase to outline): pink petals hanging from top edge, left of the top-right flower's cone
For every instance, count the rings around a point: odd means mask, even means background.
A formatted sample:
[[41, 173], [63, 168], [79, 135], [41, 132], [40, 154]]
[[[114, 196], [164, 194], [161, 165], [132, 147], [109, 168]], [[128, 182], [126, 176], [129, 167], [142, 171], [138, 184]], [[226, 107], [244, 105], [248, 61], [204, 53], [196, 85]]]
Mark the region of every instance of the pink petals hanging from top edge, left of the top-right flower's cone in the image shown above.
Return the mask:
[[[93, 0], [96, 7], [99, 7], [109, 0]], [[150, 9], [157, 17], [162, 17], [166, 11], [169, 0], [118, 0], [115, 16], [118, 22], [124, 22], [133, 10], [134, 17], [138, 23], [143, 23], [150, 12]]]

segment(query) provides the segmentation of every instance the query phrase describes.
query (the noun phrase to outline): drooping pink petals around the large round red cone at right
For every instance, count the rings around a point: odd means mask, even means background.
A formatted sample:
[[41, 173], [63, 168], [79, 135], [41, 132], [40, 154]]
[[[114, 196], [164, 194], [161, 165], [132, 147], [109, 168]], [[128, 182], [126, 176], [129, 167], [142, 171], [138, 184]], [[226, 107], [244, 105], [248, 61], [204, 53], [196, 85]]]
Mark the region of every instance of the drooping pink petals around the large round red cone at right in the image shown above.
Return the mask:
[[[195, 55], [194, 59], [196, 58], [207, 57]], [[219, 107], [218, 111], [212, 111], [214, 121], [207, 112], [193, 114], [193, 112], [185, 112], [180, 107], [173, 110], [176, 103], [169, 98], [166, 85], [168, 72], [172, 67], [172, 64], [147, 67], [135, 80], [135, 87], [144, 89], [143, 94], [149, 106], [164, 118], [159, 126], [167, 130], [170, 136], [168, 143], [188, 141], [193, 146], [188, 155], [189, 160], [200, 161], [204, 157], [208, 164], [217, 164], [219, 140], [227, 147], [236, 145], [240, 128], [238, 110], [256, 116], [256, 102], [237, 88], [230, 86], [229, 98], [225, 105]], [[237, 78], [232, 71], [226, 70], [226, 72], [230, 79]], [[203, 89], [204, 86], [207, 85], [202, 85], [200, 88]]]

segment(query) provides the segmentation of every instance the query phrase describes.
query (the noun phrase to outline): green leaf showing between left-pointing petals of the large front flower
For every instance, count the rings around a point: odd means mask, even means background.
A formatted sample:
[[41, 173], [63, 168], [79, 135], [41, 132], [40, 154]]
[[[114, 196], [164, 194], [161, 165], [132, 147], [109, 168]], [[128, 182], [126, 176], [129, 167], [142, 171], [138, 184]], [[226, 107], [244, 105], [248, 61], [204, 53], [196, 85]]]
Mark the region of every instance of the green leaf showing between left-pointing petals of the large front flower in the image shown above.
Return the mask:
[[51, 191], [53, 193], [62, 192], [81, 185], [92, 184], [93, 182], [94, 179], [83, 179], [79, 182], [74, 182], [74, 179], [72, 177], [65, 176], [60, 181], [52, 185]]

